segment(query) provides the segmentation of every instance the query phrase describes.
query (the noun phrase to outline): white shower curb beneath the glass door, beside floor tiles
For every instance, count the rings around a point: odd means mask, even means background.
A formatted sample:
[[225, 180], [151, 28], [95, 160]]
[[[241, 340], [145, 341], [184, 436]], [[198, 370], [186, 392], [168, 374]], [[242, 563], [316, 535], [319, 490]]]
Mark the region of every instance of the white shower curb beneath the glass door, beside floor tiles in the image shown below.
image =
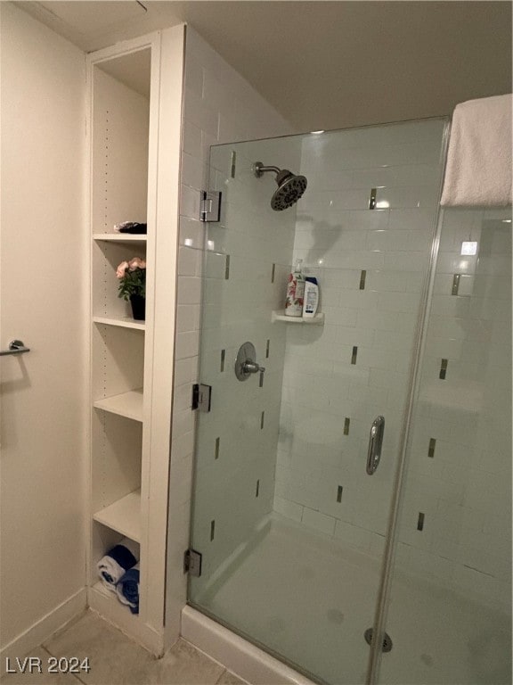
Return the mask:
[[314, 685], [192, 607], [183, 607], [182, 637], [252, 685]]

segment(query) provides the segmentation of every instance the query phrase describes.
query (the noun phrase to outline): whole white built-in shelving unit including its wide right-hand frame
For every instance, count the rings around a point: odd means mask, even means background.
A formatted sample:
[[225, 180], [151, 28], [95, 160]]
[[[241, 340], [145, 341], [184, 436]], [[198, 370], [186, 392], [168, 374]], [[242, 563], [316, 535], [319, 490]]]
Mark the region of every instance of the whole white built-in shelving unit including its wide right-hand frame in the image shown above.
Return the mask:
[[[184, 27], [87, 56], [90, 85], [91, 508], [89, 606], [161, 656], [175, 341]], [[115, 230], [123, 221], [146, 234]], [[161, 227], [159, 229], [159, 227]], [[146, 318], [118, 297], [122, 261], [146, 261]], [[160, 275], [160, 282], [157, 279]], [[160, 283], [160, 285], [159, 285]], [[160, 288], [160, 297], [157, 293]], [[158, 401], [157, 401], [158, 398]], [[99, 581], [128, 538], [138, 549], [139, 614]], [[169, 624], [169, 623], [168, 623]], [[167, 624], [167, 625], [168, 625]]]

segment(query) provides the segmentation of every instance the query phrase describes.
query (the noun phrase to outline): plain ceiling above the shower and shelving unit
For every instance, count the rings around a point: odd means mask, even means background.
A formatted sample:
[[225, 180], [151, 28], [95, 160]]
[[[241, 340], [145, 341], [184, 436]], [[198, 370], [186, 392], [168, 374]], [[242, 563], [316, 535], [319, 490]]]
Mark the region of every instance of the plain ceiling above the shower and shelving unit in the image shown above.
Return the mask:
[[85, 52], [190, 23], [297, 131], [450, 114], [511, 92], [511, 3], [18, 2]]

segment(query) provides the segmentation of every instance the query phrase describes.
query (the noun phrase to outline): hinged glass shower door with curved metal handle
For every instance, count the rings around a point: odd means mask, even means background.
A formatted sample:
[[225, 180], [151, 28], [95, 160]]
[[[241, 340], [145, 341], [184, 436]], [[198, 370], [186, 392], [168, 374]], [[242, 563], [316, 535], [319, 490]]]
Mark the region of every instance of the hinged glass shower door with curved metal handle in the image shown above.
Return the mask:
[[[212, 148], [190, 602], [318, 681], [365, 681], [409, 371], [436, 224], [444, 120]], [[270, 206], [273, 171], [303, 197]], [[374, 192], [372, 192], [374, 191]], [[370, 209], [371, 194], [375, 209]], [[281, 320], [291, 265], [323, 322]], [[315, 325], [315, 323], [319, 325]], [[322, 325], [323, 324], [323, 325]], [[260, 374], [234, 362], [253, 342]], [[371, 424], [386, 420], [374, 475]]]

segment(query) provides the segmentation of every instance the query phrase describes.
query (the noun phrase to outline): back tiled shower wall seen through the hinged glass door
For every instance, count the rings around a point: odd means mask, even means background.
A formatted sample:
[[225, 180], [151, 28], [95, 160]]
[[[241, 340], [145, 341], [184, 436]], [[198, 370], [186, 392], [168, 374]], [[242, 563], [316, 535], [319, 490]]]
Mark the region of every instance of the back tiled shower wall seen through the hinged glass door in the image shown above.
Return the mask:
[[[274, 508], [379, 553], [442, 174], [443, 120], [308, 136], [294, 260], [325, 325], [287, 328]], [[369, 209], [376, 188], [376, 209]], [[381, 463], [366, 475], [373, 419]]]

